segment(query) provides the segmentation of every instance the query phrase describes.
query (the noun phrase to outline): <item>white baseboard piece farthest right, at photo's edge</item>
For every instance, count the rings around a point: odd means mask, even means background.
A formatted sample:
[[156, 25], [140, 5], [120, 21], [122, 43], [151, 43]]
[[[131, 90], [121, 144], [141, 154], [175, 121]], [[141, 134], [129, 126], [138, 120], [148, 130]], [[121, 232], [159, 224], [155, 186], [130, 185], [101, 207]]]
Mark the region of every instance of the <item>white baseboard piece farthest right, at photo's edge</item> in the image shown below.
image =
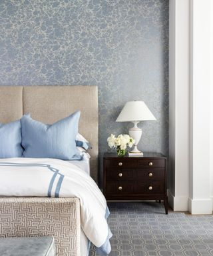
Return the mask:
[[189, 199], [189, 211], [191, 214], [212, 214], [212, 198]]

